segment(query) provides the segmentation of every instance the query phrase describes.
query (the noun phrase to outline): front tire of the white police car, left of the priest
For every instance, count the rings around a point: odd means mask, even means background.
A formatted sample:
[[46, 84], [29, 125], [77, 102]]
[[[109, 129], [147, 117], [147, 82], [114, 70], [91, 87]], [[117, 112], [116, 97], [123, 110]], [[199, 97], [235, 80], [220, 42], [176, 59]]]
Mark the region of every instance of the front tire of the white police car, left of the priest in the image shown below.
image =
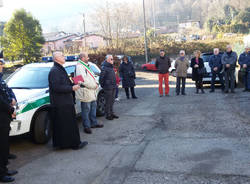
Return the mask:
[[52, 135], [52, 125], [48, 111], [38, 112], [34, 124], [32, 138], [36, 144], [46, 144]]

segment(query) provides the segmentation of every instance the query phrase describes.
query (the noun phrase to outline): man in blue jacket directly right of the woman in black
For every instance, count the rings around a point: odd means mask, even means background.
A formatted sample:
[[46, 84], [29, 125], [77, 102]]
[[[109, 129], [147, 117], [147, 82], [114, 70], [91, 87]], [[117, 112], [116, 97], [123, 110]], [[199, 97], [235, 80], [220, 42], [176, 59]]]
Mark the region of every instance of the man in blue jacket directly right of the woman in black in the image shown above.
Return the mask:
[[218, 48], [214, 49], [214, 55], [212, 55], [209, 59], [209, 66], [212, 72], [210, 92], [211, 93], [214, 92], [214, 83], [217, 76], [220, 79], [221, 90], [224, 91], [225, 85], [223, 80], [223, 74], [221, 73], [222, 70], [221, 55], [220, 55], [220, 50]]

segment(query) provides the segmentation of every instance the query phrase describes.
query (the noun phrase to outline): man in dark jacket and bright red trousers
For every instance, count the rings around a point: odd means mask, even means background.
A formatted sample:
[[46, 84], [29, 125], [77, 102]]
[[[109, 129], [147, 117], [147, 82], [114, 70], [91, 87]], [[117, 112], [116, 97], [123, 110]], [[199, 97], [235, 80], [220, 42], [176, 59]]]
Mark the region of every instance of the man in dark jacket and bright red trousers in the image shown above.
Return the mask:
[[160, 97], [163, 96], [162, 83], [165, 82], [165, 95], [169, 94], [169, 68], [171, 67], [171, 61], [168, 56], [165, 55], [164, 50], [160, 50], [160, 57], [156, 59], [155, 67], [159, 70], [159, 93]]

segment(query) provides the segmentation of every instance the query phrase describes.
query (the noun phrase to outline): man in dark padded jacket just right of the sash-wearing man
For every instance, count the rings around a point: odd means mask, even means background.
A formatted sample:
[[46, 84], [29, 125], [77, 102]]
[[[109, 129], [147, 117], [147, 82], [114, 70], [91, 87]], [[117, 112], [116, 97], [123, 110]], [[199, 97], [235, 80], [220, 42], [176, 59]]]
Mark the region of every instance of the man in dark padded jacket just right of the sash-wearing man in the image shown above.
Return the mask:
[[119, 118], [114, 114], [113, 105], [115, 102], [116, 93], [116, 76], [114, 71], [114, 61], [113, 56], [108, 56], [107, 60], [102, 64], [102, 70], [100, 75], [100, 84], [104, 89], [105, 93], [105, 113], [107, 120], [113, 120], [114, 118]]

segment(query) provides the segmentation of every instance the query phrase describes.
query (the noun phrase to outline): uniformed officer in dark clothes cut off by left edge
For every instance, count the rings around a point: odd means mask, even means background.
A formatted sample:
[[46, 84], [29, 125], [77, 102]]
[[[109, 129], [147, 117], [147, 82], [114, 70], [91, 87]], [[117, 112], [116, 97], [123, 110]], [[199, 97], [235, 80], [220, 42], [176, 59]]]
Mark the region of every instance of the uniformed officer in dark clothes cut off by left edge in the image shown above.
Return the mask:
[[10, 122], [16, 116], [14, 105], [16, 103], [15, 95], [2, 79], [4, 61], [0, 59], [0, 182], [12, 182], [15, 179], [11, 177], [17, 174], [17, 171], [7, 169], [9, 157], [9, 131]]

